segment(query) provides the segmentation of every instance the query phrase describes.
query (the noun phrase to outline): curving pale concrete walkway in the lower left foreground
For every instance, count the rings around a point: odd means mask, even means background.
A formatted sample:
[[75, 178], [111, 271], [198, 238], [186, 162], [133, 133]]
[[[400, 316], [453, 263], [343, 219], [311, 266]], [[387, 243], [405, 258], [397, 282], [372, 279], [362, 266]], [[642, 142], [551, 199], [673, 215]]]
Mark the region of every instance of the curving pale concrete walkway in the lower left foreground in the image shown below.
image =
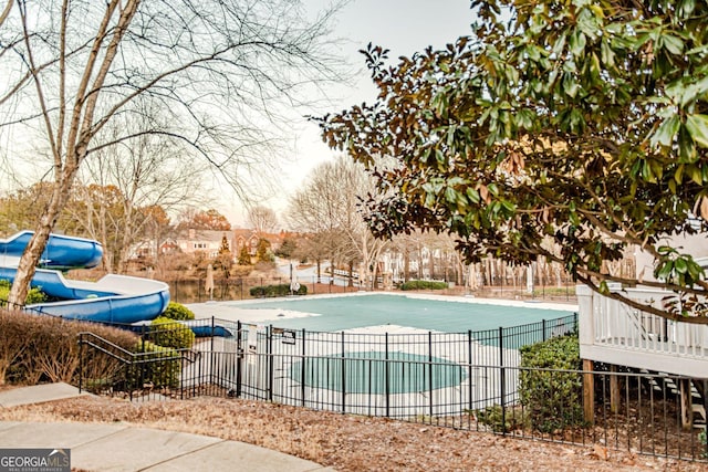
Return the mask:
[[[15, 388], [0, 391], [0, 408], [79, 395], [66, 384]], [[243, 442], [123, 424], [0, 421], [0, 449], [8, 448], [69, 449], [81, 471], [333, 471]]]

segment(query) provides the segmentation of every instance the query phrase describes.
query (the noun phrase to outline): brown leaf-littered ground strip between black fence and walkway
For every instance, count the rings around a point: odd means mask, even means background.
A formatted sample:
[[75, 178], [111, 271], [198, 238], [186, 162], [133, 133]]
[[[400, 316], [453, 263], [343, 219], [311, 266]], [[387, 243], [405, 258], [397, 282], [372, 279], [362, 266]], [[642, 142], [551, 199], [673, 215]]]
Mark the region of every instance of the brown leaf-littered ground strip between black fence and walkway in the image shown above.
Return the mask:
[[706, 471], [699, 463], [230, 398], [81, 397], [0, 409], [0, 420], [129, 423], [243, 441], [337, 471]]

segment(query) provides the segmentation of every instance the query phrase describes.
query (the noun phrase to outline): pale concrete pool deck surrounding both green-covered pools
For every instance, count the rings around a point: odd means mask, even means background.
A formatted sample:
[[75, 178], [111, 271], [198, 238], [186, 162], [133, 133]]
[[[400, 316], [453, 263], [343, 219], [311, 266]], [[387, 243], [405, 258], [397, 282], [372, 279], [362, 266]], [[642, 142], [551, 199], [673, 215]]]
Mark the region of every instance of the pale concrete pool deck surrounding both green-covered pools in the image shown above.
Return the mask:
[[[278, 321], [313, 317], [313, 322], [316, 323], [316, 317], [326, 316], [278, 307], [271, 308], [270, 306], [274, 305], [267, 304], [278, 304], [279, 301], [291, 302], [293, 298], [351, 298], [353, 296], [361, 297], [365, 295], [393, 295], [421, 301], [456, 302], [486, 306], [511, 306], [531, 308], [532, 311], [538, 308], [540, 312], [545, 313], [558, 312], [559, 317], [564, 316], [568, 312], [577, 310], [577, 305], [565, 303], [385, 292], [208, 302], [187, 306], [195, 313], [197, 318], [210, 318], [214, 316], [218, 321], [241, 322], [247, 325], [247, 337], [250, 339], [251, 331], [267, 329], [267, 325], [277, 323]], [[259, 304], [263, 304], [263, 308], [256, 308]], [[488, 317], [487, 311], [488, 310], [481, 310], [481, 312], [483, 312], [481, 316]], [[259, 388], [271, 389], [272, 400], [277, 402], [304, 405], [313, 409], [330, 409], [356, 415], [371, 416], [384, 415], [385, 412], [386, 416], [394, 418], [409, 418], [420, 415], [458, 418], [466, 409], [486, 408], [492, 405], [493, 401], [497, 401], [496, 399], [500, 398], [502, 394], [509, 396], [516, 390], [520, 354], [518, 349], [511, 346], [504, 346], [502, 348], [501, 345], [490, 343], [489, 339], [483, 336], [478, 340], [471, 337], [471, 332], [448, 333], [431, 328], [424, 329], [407, 326], [405, 325], [405, 318], [394, 321], [378, 317], [368, 319], [368, 322], [369, 324], [363, 326], [336, 329], [335, 332], [337, 334], [342, 333], [342, 336], [341, 338], [336, 337], [335, 343], [332, 342], [333, 332], [330, 331], [312, 331], [308, 333], [306, 340], [304, 335], [302, 337], [295, 336], [293, 343], [281, 343], [277, 336], [275, 342], [268, 343], [268, 347], [266, 347], [266, 343], [270, 338], [253, 337], [253, 339], [260, 339], [260, 342], [252, 346], [253, 350], [251, 354], [254, 355], [247, 354], [247, 361], [242, 365], [244, 370], [241, 371], [241, 376], [253, 379]], [[391, 349], [391, 352], [405, 353], [414, 356], [433, 356], [436, 359], [442, 359], [440, 361], [444, 364], [458, 365], [461, 368], [460, 371], [464, 371], [465, 375], [460, 376], [459, 382], [456, 385], [436, 388], [430, 391], [417, 389], [416, 391], [381, 395], [376, 392], [342, 392], [337, 389], [306, 385], [306, 382], [302, 382], [300, 378], [292, 378], [291, 374], [289, 374], [293, 365], [295, 365], [293, 363], [300, 360], [301, 353], [306, 352], [311, 357], [339, 357], [342, 355], [343, 344], [346, 344], [348, 346], [347, 350], [352, 352], [377, 352], [384, 349], [385, 344], [386, 352]], [[205, 348], [237, 353], [239, 346], [232, 339], [219, 338], [209, 342], [209, 344], [205, 345]], [[260, 381], [258, 379], [261, 378], [259, 373], [263, 371], [264, 368], [262, 365], [264, 358], [261, 356], [263, 353], [275, 354], [273, 364], [270, 365], [269, 368], [275, 373], [278, 381], [268, 387], [258, 384]], [[207, 357], [204, 357], [204, 359], [206, 363]], [[361, 368], [365, 368], [364, 363], [362, 363], [361, 366]], [[396, 366], [394, 363], [393, 368], [395, 369]], [[501, 376], [499, 366], [507, 368], [503, 377]], [[208, 371], [209, 368], [210, 366], [205, 364], [200, 367], [200, 371]], [[373, 371], [371, 366], [369, 371]], [[229, 370], [217, 375], [217, 377], [228, 377], [231, 374]], [[410, 378], [409, 374], [410, 373], [408, 373], [408, 377], [406, 378]], [[228, 380], [227, 384], [232, 385], [233, 381], [235, 380]], [[369, 379], [369, 381], [372, 380]], [[501, 387], [502, 385], [503, 389]]]

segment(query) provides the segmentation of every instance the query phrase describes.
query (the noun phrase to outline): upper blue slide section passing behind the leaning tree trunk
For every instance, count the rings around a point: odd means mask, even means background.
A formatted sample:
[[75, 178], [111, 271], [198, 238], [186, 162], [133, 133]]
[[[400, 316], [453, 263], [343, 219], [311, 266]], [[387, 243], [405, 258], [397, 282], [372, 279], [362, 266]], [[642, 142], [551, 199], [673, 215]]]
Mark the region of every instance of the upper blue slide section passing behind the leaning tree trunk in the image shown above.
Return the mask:
[[[20, 258], [32, 234], [33, 231], [21, 231], [8, 239], [0, 239], [0, 255]], [[39, 266], [59, 270], [91, 269], [98, 265], [102, 258], [103, 247], [97, 241], [50, 234]]]

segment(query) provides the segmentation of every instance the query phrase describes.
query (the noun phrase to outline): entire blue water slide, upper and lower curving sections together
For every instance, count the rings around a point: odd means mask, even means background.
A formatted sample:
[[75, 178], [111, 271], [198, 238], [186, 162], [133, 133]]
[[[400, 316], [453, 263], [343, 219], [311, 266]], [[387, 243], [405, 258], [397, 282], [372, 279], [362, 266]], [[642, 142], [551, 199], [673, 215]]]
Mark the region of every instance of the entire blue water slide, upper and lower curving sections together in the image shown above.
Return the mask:
[[[0, 280], [12, 282], [31, 231], [0, 240]], [[97, 282], [67, 280], [61, 270], [93, 268], [101, 262], [101, 243], [52, 234], [31, 285], [60, 302], [27, 308], [71, 319], [132, 324], [154, 319], [169, 303], [169, 286], [150, 279], [108, 274]]]

